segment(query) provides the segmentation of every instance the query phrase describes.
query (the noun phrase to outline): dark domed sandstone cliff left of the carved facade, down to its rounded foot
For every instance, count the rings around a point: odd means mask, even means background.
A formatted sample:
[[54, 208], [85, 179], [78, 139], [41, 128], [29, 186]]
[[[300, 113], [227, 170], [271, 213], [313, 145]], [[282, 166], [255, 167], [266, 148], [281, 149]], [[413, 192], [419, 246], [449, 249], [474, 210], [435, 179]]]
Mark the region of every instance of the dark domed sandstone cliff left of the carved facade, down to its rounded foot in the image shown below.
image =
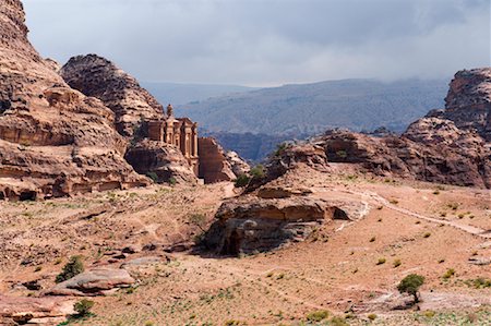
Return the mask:
[[164, 118], [164, 109], [133, 76], [95, 55], [70, 59], [60, 74], [70, 86], [113, 111], [118, 132], [131, 143], [125, 159], [136, 172], [155, 182], [197, 182], [177, 146], [146, 138], [146, 121]]

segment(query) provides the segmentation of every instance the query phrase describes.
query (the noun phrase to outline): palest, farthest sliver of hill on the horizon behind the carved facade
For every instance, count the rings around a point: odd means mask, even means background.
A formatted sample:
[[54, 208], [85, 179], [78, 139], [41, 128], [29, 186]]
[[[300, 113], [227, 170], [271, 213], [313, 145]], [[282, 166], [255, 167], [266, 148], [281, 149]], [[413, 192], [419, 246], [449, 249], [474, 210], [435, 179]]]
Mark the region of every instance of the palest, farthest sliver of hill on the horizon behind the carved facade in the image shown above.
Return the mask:
[[182, 105], [209, 97], [230, 95], [258, 88], [237, 85], [202, 85], [178, 83], [142, 83], [163, 105]]

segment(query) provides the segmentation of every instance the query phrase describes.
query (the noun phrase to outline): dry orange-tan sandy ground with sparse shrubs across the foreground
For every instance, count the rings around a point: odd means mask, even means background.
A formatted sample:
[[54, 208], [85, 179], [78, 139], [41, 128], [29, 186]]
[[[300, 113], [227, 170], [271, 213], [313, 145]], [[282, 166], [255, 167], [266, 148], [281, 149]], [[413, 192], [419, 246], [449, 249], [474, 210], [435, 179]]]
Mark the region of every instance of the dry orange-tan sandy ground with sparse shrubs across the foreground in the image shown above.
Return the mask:
[[[307, 186], [318, 197], [362, 201], [370, 212], [355, 222], [331, 221], [307, 241], [270, 253], [217, 257], [161, 247], [200, 234], [233, 195], [227, 183], [3, 202], [0, 292], [38, 295], [19, 283], [39, 279], [50, 288], [74, 254], [86, 267], [118, 268], [123, 259], [107, 253], [132, 244], [147, 250], [127, 261], [168, 261], [132, 268], [137, 287], [93, 299], [95, 315], [71, 325], [331, 325], [328, 318], [309, 324], [307, 315], [319, 310], [349, 325], [491, 325], [491, 288], [470, 283], [490, 279], [491, 265], [469, 263], [491, 258], [489, 190], [307, 168], [274, 182]], [[444, 278], [450, 268], [455, 274]], [[409, 298], [396, 286], [411, 273], [426, 277], [422, 302], [397, 310]]]

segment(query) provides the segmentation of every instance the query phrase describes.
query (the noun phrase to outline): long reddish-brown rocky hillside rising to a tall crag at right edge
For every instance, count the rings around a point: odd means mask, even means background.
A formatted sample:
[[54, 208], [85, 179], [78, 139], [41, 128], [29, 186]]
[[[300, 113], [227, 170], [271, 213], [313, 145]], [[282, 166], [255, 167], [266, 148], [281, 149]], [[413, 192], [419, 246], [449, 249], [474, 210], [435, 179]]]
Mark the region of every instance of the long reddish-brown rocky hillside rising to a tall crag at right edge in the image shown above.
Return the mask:
[[[350, 164], [378, 176], [489, 189], [490, 73], [489, 68], [458, 72], [445, 109], [431, 111], [400, 136], [331, 130], [307, 144], [322, 148], [328, 162]], [[291, 157], [298, 156], [294, 153], [304, 146], [292, 145], [274, 157], [268, 180], [285, 173]], [[313, 154], [302, 157], [312, 160]]]

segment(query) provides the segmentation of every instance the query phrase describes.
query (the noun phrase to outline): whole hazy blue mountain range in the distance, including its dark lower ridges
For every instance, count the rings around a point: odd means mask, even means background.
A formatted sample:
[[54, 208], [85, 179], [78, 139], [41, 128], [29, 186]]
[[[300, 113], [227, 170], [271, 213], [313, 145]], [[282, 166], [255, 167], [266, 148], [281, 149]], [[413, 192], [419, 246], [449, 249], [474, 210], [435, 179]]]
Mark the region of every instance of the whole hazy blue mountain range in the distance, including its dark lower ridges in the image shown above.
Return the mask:
[[403, 132], [429, 110], [444, 106], [448, 80], [342, 80], [260, 89], [170, 83], [144, 86], [161, 102], [176, 104], [177, 114], [197, 121], [204, 134], [256, 161], [277, 142], [326, 129], [386, 126]]

